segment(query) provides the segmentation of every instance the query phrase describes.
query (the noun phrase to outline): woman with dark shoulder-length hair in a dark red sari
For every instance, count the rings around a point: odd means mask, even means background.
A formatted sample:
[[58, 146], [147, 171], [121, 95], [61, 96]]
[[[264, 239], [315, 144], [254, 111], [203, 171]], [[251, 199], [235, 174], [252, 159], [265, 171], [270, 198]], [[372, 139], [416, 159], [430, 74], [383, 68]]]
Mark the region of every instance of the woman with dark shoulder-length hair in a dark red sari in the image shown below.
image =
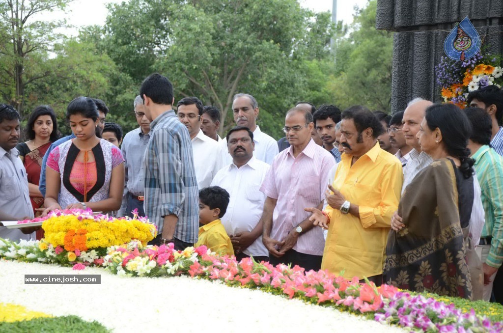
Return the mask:
[[[52, 142], [59, 138], [58, 123], [54, 110], [48, 105], [36, 107], [28, 118], [25, 129], [26, 142], [19, 143], [19, 157], [25, 165], [28, 176], [28, 189], [35, 216], [40, 215], [36, 209], [44, 204], [44, 196], [38, 189], [42, 158]], [[37, 231], [37, 239], [42, 236], [42, 231]]]

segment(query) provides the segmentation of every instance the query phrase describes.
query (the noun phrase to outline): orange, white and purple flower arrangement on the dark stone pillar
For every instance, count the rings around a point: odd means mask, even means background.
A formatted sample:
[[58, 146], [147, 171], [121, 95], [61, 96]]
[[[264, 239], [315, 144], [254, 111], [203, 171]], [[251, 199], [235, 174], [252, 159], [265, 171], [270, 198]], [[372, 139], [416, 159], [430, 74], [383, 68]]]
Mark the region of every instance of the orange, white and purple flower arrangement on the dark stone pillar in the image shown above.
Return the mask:
[[435, 71], [444, 102], [464, 109], [467, 107], [466, 99], [469, 92], [490, 85], [501, 88], [503, 69], [500, 65], [500, 56], [482, 55], [480, 51], [465, 61], [442, 57]]

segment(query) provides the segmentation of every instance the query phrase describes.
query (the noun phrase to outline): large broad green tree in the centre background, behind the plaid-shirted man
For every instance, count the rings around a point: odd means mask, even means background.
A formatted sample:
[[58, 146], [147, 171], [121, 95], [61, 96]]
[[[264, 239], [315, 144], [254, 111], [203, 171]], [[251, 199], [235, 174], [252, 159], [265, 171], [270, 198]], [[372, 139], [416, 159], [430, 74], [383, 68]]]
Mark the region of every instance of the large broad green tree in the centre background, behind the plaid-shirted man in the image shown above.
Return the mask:
[[110, 5], [102, 44], [124, 72], [170, 77], [177, 98], [197, 96], [233, 124], [232, 96], [254, 95], [259, 124], [278, 126], [303, 99], [305, 61], [327, 57], [333, 26], [295, 0], [131, 0]]

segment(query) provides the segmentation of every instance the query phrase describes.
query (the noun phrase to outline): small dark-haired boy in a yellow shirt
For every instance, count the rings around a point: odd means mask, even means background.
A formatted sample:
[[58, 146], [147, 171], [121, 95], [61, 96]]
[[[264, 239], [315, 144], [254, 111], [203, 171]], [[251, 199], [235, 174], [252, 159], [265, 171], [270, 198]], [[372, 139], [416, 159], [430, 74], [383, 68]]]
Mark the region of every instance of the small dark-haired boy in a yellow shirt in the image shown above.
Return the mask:
[[199, 240], [195, 247], [206, 245], [212, 252], [234, 255], [232, 242], [220, 221], [229, 205], [229, 193], [218, 186], [199, 191]]

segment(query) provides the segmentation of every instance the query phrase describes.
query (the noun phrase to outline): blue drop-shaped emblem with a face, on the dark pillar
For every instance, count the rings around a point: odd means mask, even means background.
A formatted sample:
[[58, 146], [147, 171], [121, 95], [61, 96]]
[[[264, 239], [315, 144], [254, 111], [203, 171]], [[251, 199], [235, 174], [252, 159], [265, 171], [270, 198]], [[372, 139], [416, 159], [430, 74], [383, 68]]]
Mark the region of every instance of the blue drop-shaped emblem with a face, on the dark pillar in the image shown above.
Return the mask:
[[465, 61], [480, 50], [480, 35], [468, 16], [454, 27], [444, 41], [445, 54], [452, 60]]

